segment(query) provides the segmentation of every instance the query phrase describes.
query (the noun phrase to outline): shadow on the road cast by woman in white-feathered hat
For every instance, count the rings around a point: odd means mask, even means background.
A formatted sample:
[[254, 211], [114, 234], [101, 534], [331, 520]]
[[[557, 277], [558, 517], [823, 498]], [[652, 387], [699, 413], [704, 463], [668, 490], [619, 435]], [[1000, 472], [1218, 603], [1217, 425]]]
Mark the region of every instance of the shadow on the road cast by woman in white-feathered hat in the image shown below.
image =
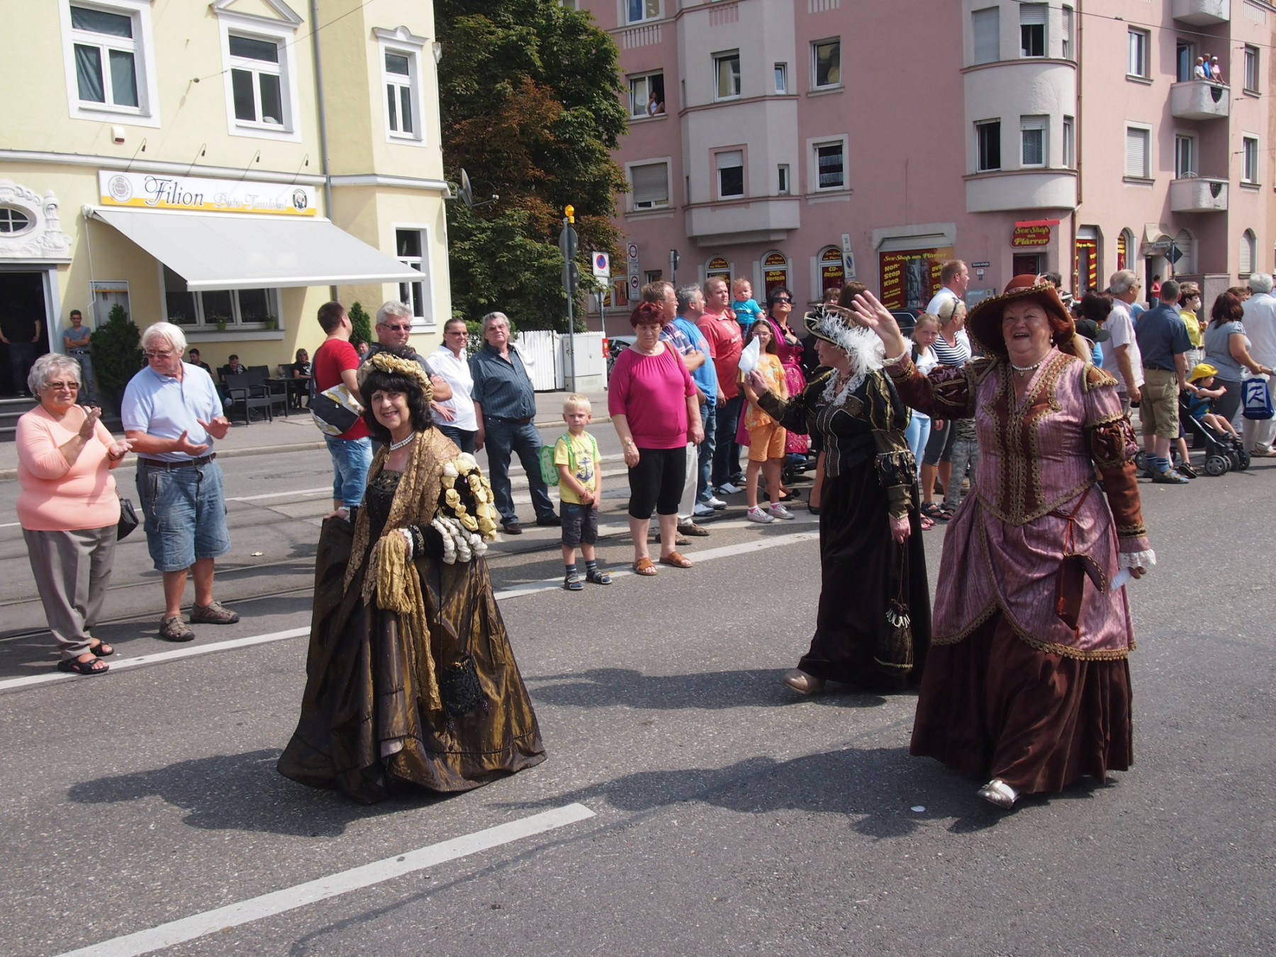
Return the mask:
[[801, 698], [780, 683], [782, 671], [752, 669], [707, 671], [693, 675], [647, 675], [624, 667], [596, 667], [563, 675], [524, 675], [532, 698], [545, 704], [596, 708], [624, 704], [630, 708], [739, 708], [749, 704], [812, 704], [875, 708], [886, 704], [878, 694], [832, 685], [818, 698]]

